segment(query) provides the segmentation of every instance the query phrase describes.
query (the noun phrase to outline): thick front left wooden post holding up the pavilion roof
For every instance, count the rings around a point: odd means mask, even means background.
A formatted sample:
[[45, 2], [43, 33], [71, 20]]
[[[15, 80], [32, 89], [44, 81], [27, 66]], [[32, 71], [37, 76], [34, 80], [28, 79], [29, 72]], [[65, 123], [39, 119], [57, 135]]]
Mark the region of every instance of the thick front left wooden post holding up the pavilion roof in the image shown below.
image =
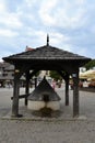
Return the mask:
[[13, 88], [13, 103], [12, 103], [12, 117], [19, 117], [19, 92], [20, 92], [20, 72], [14, 72], [14, 88]]

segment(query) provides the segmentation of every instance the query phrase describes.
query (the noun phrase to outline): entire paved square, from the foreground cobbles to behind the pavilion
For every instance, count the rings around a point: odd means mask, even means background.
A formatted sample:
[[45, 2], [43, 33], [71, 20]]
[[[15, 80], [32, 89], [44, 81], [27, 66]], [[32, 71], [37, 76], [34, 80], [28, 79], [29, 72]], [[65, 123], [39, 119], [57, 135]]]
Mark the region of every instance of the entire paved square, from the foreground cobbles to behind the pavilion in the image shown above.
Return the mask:
[[[80, 117], [86, 117], [81, 120], [72, 119], [72, 91], [69, 107], [64, 106], [62, 89], [59, 89], [59, 95], [63, 106], [58, 119], [10, 120], [2, 117], [11, 112], [12, 89], [0, 89], [0, 143], [95, 143], [95, 92], [80, 92]], [[28, 117], [29, 112], [23, 105], [21, 100], [20, 112]]]

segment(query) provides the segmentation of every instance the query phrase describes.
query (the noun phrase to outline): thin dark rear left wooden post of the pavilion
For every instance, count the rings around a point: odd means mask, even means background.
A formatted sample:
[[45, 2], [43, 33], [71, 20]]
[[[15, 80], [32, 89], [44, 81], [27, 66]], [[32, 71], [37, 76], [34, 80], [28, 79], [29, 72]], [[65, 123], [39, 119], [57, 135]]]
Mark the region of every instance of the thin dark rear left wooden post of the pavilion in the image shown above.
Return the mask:
[[27, 106], [27, 97], [29, 94], [29, 72], [26, 73], [26, 88], [25, 88], [25, 106]]

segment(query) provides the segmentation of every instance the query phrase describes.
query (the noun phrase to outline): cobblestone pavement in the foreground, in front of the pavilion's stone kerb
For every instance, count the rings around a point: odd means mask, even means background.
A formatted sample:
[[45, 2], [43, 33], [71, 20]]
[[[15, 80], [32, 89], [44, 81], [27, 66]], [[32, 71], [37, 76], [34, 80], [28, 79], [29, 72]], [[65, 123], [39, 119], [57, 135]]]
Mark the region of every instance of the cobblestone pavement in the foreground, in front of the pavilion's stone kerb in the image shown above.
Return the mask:
[[95, 121], [0, 120], [0, 143], [95, 143]]

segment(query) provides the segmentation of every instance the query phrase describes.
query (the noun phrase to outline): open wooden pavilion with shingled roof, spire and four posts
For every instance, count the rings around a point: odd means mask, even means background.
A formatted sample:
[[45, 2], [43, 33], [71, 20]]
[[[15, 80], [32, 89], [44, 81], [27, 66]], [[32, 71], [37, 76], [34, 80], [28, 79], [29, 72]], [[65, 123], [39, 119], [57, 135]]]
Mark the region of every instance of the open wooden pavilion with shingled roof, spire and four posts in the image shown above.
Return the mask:
[[20, 78], [23, 74], [26, 77], [25, 106], [29, 95], [29, 79], [38, 70], [57, 70], [66, 81], [66, 106], [69, 106], [69, 77], [73, 80], [73, 117], [79, 117], [79, 68], [91, 61], [78, 54], [60, 50], [49, 45], [49, 37], [44, 46], [32, 51], [14, 54], [3, 57], [3, 61], [14, 65], [14, 87], [12, 117], [19, 117], [20, 99]]

